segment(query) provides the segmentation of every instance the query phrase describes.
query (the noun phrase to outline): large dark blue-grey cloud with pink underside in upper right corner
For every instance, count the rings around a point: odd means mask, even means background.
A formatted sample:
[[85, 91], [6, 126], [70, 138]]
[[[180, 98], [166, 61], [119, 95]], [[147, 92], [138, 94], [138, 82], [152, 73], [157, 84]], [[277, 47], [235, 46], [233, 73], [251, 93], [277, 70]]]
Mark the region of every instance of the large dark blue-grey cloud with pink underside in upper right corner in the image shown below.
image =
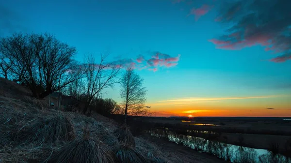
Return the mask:
[[271, 61], [291, 59], [291, 0], [235, 0], [222, 6], [216, 21], [229, 23], [230, 28], [210, 40], [217, 48], [261, 45], [278, 54]]

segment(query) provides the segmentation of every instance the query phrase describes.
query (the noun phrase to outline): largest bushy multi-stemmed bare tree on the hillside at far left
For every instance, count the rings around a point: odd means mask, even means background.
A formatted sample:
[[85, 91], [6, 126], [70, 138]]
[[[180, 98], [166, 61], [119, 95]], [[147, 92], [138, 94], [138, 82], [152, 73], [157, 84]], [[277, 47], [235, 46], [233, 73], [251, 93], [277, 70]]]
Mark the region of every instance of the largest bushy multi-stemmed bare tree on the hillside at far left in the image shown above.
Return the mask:
[[18, 78], [14, 81], [24, 81], [38, 98], [64, 88], [81, 76], [81, 68], [73, 60], [76, 48], [48, 33], [16, 33], [2, 38], [0, 53], [13, 59], [10, 71]]

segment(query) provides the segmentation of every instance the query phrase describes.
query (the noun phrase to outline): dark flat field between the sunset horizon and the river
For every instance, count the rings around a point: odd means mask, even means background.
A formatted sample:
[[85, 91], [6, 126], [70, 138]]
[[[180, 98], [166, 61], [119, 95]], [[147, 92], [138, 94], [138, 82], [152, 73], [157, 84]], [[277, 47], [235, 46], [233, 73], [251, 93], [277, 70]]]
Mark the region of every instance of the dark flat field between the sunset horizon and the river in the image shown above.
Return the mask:
[[[279, 150], [286, 152], [291, 142], [291, 118], [153, 118], [132, 117], [145, 130], [160, 128], [178, 134], [209, 138], [216, 141], [249, 148]], [[133, 125], [134, 126], [134, 125]], [[288, 144], [289, 145], [289, 144]], [[274, 149], [278, 148], [278, 149]]]

